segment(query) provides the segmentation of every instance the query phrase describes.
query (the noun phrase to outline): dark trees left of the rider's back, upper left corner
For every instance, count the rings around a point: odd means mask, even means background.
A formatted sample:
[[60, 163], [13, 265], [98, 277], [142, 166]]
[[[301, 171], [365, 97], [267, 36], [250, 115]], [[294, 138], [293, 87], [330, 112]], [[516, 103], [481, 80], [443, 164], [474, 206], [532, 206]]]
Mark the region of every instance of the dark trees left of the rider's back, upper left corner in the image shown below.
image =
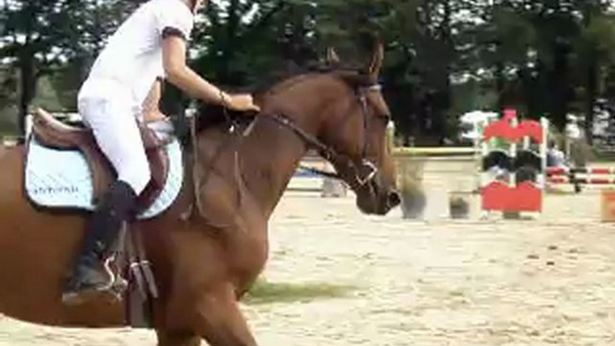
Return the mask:
[[19, 131], [23, 134], [24, 117], [36, 97], [39, 79], [64, 68], [71, 82], [56, 86], [73, 91], [69, 94], [74, 99], [74, 84], [82, 80], [91, 56], [115, 30], [126, 8], [134, 4], [120, 0], [2, 1], [0, 59], [18, 71]]

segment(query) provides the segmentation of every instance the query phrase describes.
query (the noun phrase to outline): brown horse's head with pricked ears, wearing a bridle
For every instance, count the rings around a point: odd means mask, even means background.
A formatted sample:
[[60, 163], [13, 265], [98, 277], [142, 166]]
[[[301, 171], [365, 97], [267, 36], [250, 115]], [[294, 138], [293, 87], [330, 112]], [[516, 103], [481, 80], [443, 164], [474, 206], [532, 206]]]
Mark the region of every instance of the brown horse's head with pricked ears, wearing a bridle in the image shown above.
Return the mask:
[[[328, 58], [337, 63], [333, 50]], [[395, 187], [394, 160], [386, 129], [391, 114], [378, 84], [384, 48], [378, 45], [365, 72], [339, 70], [331, 75], [342, 81], [342, 88], [330, 108], [319, 138], [334, 155], [333, 166], [357, 195], [362, 212], [385, 214], [401, 203]]]

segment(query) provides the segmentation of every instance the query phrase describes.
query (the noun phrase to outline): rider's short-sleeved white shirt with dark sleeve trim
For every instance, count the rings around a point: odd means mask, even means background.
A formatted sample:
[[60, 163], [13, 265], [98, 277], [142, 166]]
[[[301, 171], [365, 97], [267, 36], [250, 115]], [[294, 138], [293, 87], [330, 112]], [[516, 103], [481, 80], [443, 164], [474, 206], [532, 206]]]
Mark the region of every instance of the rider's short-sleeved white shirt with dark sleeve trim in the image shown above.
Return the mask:
[[180, 0], [150, 0], [142, 4], [108, 39], [79, 91], [79, 98], [104, 98], [128, 92], [131, 106], [140, 108], [153, 82], [164, 75], [163, 30], [179, 30], [188, 39], [194, 19], [194, 13]]

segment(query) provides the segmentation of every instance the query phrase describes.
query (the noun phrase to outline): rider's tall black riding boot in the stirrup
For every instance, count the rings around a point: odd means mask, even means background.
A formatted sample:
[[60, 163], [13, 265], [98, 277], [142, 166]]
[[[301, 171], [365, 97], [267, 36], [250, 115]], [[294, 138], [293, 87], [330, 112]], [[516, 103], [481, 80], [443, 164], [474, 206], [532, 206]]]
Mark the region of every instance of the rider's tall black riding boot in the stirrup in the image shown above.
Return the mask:
[[137, 196], [132, 187], [117, 181], [102, 199], [91, 220], [82, 255], [62, 294], [65, 304], [80, 304], [87, 296], [110, 291], [114, 275], [105, 263], [124, 223], [134, 214]]

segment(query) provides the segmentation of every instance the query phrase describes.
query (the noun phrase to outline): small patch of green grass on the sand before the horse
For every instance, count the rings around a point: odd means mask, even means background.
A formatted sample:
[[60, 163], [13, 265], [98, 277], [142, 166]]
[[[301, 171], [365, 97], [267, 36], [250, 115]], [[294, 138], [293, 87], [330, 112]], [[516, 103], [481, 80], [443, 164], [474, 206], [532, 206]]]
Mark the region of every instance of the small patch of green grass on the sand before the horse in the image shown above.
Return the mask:
[[289, 303], [294, 301], [311, 301], [317, 298], [342, 298], [356, 287], [333, 285], [325, 282], [285, 283], [256, 281], [247, 292], [244, 301], [247, 304]]

